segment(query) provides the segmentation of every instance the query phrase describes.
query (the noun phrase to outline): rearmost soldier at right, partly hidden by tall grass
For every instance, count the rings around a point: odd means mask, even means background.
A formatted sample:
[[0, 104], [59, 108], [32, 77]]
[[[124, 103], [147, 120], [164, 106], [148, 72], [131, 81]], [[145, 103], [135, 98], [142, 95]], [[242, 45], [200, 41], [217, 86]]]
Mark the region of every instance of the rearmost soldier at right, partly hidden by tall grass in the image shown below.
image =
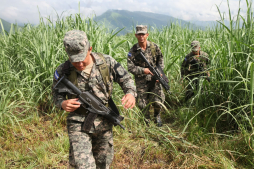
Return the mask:
[[[191, 42], [191, 49], [192, 51], [185, 56], [181, 66], [181, 81], [184, 76], [189, 81], [186, 87], [185, 101], [194, 95], [193, 89], [197, 90], [200, 77], [204, 76], [204, 73], [201, 72], [207, 69], [207, 65], [210, 62], [208, 54], [200, 50], [199, 41]], [[206, 72], [205, 76], [209, 79], [209, 72]]]

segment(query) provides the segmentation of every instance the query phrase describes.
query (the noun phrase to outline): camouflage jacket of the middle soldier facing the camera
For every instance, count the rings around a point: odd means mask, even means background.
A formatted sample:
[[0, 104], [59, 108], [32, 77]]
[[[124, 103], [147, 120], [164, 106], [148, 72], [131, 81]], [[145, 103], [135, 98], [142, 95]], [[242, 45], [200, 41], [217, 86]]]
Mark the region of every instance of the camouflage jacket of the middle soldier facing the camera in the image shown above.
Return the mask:
[[140, 60], [137, 57], [139, 50], [141, 50], [144, 53], [145, 57], [152, 66], [156, 66], [156, 64], [158, 63], [162, 68], [162, 70], [164, 69], [164, 61], [161, 50], [158, 47], [158, 45], [153, 43], [155, 47], [155, 56], [153, 57], [151, 51], [151, 43], [153, 42], [147, 41], [147, 47], [145, 51], [142, 50], [139, 44], [137, 43], [130, 49], [128, 53], [127, 59], [128, 71], [135, 76], [136, 83], [140, 80], [143, 81], [144, 79], [146, 79], [146, 81], [151, 81], [151, 75], [144, 74], [144, 69], [148, 68], [148, 66], [144, 61]]

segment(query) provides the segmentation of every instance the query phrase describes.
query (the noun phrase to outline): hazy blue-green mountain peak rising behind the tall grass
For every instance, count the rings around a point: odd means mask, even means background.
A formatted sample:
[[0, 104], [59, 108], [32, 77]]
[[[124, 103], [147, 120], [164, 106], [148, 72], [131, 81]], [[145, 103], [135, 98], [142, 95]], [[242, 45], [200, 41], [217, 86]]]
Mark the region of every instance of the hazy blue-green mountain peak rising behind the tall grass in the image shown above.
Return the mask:
[[170, 25], [172, 22], [178, 22], [181, 26], [189, 26], [193, 29], [202, 26], [197, 26], [193, 23], [177, 19], [168, 15], [156, 14], [151, 12], [130, 12], [127, 10], [108, 10], [102, 15], [95, 17], [94, 20], [100, 24], [105, 24], [110, 30], [125, 29], [121, 31], [121, 34], [132, 32], [133, 27], [138, 24], [148, 25], [150, 27], [155, 26], [161, 28], [162, 26]]

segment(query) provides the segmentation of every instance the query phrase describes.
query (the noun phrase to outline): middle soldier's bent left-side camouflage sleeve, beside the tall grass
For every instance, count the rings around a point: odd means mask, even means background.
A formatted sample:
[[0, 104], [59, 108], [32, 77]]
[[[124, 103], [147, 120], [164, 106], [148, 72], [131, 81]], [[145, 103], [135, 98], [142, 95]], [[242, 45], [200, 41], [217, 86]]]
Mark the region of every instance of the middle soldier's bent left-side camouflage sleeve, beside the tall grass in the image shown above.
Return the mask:
[[132, 47], [127, 56], [128, 71], [135, 76], [144, 74], [145, 68], [136, 66], [134, 63], [135, 63], [135, 52], [133, 51], [133, 47]]

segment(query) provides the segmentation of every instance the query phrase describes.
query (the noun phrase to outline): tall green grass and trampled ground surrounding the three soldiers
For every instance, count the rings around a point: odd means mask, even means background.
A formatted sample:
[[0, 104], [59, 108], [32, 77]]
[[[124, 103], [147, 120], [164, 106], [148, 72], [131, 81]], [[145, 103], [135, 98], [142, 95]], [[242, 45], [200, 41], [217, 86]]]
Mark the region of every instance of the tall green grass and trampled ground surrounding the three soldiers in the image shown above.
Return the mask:
[[[165, 125], [145, 125], [138, 108], [124, 110], [116, 84], [113, 99], [125, 116], [126, 130], [114, 128], [112, 168], [253, 168], [253, 15], [230, 17], [230, 27], [193, 30], [176, 24], [150, 30], [149, 40], [160, 44], [172, 95], [167, 95]], [[240, 10], [239, 10], [240, 11]], [[230, 10], [229, 10], [230, 15]], [[223, 16], [223, 15], [222, 15]], [[45, 21], [45, 22], [44, 22]], [[0, 34], [0, 168], [67, 168], [67, 113], [54, 108], [53, 72], [67, 59], [65, 32], [87, 33], [93, 51], [113, 56], [124, 67], [133, 34], [107, 33], [79, 14], [26, 25]], [[243, 25], [240, 27], [240, 21]], [[211, 83], [183, 103], [180, 64], [199, 40], [211, 58]]]

